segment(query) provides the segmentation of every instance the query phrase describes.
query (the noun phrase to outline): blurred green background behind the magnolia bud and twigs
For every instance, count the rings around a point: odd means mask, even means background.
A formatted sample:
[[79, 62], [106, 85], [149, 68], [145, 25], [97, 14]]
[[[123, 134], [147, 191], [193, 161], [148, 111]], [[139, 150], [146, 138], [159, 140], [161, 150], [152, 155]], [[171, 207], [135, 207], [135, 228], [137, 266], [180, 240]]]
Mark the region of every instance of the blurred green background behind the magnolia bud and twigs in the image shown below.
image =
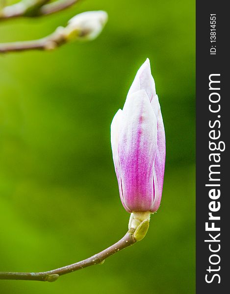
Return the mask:
[[93, 42], [0, 55], [0, 270], [51, 270], [119, 240], [110, 123], [150, 58], [164, 118], [161, 206], [146, 238], [55, 283], [0, 281], [0, 294], [195, 293], [195, 1], [85, 0], [0, 23], [0, 41], [40, 38], [105, 10]]

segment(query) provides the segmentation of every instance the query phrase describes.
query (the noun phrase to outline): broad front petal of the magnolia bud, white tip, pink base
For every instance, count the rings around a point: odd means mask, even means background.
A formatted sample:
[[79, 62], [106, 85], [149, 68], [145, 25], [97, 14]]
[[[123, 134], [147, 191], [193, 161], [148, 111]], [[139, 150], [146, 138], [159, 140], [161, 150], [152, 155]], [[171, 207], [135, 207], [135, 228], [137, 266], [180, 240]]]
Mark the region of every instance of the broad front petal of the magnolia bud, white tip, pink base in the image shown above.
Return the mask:
[[121, 120], [118, 155], [125, 202], [132, 211], [148, 211], [153, 204], [153, 163], [157, 123], [144, 90], [127, 97]]

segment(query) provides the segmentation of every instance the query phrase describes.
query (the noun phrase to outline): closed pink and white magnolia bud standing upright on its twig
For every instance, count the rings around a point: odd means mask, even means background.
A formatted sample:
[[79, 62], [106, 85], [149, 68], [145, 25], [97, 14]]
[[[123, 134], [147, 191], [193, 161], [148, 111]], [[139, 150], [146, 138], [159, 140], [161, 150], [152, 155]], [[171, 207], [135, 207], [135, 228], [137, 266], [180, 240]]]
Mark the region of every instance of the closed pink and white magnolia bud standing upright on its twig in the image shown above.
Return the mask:
[[131, 212], [159, 208], [165, 167], [165, 131], [150, 61], [138, 70], [123, 110], [111, 123], [111, 146], [121, 201]]

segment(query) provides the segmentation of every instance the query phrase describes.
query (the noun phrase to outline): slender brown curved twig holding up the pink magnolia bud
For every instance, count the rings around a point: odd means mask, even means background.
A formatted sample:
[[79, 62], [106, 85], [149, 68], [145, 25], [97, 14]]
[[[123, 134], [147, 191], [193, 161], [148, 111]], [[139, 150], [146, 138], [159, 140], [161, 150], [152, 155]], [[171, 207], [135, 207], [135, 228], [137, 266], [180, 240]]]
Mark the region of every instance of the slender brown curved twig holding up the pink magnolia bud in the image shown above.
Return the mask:
[[81, 270], [93, 265], [102, 264], [107, 257], [113, 255], [114, 253], [117, 253], [118, 251], [121, 251], [122, 249], [130, 245], [133, 245], [134, 243], [136, 243], [136, 240], [133, 237], [133, 233], [134, 229], [129, 229], [127, 234], [114, 245], [108, 247], [107, 249], [104, 249], [100, 253], [97, 253], [75, 264], [43, 272], [0, 272], [0, 279], [54, 282], [60, 275], [64, 275], [76, 270]]

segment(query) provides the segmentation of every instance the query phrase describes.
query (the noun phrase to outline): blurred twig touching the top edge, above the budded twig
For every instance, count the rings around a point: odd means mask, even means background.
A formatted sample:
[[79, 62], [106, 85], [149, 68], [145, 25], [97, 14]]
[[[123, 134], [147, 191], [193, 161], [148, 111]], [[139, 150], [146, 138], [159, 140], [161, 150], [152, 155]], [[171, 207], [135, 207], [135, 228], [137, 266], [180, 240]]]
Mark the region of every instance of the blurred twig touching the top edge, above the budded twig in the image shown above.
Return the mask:
[[61, 10], [64, 10], [79, 0], [57, 0], [48, 3], [49, 0], [34, 0], [9, 5], [0, 9], [0, 21], [17, 17], [38, 17], [49, 15]]

